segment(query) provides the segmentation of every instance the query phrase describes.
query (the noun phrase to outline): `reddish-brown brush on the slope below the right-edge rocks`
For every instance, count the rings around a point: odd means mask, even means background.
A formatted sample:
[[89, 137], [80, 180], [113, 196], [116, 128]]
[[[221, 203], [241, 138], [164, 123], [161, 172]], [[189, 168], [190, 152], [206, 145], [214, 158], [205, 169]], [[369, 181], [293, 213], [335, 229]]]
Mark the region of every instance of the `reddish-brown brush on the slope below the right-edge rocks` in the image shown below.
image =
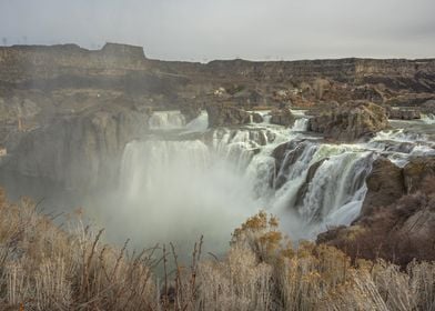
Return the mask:
[[353, 227], [332, 229], [317, 241], [352, 259], [382, 258], [403, 268], [414, 259], [435, 260], [435, 177], [426, 177], [419, 191], [373, 209]]

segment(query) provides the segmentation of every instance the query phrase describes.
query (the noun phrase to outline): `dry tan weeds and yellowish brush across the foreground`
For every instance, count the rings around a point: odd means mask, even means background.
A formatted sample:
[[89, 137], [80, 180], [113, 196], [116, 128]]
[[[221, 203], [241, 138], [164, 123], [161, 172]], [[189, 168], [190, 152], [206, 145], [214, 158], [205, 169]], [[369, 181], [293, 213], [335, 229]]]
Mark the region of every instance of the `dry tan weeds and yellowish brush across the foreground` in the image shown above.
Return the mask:
[[[0, 191], [0, 310], [435, 310], [435, 264], [406, 271], [357, 261], [325, 245], [297, 250], [261, 212], [236, 229], [224, 259], [190, 268], [172, 245], [128, 254], [78, 225], [58, 229], [34, 204]], [[151, 274], [160, 264], [163, 281]]]

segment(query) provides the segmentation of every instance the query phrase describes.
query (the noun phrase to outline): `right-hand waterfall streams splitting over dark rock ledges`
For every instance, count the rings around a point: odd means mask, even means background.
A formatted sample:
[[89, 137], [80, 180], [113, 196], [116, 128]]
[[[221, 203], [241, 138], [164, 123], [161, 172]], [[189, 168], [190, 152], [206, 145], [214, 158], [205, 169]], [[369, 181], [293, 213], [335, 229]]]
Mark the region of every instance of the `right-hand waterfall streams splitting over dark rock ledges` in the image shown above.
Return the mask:
[[300, 218], [293, 237], [313, 238], [326, 224], [350, 224], [366, 193], [372, 154], [354, 144], [299, 143], [279, 169], [272, 211]]

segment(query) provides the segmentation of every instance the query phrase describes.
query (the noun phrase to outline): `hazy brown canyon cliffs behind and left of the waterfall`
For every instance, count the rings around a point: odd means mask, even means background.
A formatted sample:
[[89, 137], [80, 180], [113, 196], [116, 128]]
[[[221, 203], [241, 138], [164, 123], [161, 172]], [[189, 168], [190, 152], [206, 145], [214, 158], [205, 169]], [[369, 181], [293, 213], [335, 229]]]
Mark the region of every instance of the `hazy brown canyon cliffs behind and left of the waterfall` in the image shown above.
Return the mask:
[[[313, 129], [340, 138], [321, 114], [345, 102], [370, 101], [386, 112], [435, 109], [435, 59], [193, 63], [152, 60], [140, 47], [108, 43], [92, 51], [3, 47], [0, 69], [0, 144], [8, 153], [1, 165], [71, 188], [111, 180], [119, 169], [112, 163], [148, 130], [152, 111], [176, 109], [191, 120], [208, 109], [215, 124], [241, 124], [249, 120], [245, 110], [299, 107], [318, 116]], [[279, 122], [293, 122], [280, 113]], [[360, 127], [362, 134], [370, 127]], [[355, 138], [352, 126], [345, 130]]]

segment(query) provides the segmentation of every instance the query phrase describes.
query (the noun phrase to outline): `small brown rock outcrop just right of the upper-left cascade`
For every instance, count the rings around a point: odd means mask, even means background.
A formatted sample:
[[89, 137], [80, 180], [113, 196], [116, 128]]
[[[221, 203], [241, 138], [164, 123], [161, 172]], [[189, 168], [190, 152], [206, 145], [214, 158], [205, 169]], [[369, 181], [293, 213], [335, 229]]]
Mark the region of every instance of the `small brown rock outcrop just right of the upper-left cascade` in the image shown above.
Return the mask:
[[240, 126], [251, 121], [251, 113], [224, 103], [209, 104], [206, 107], [206, 112], [209, 113], [210, 128]]

